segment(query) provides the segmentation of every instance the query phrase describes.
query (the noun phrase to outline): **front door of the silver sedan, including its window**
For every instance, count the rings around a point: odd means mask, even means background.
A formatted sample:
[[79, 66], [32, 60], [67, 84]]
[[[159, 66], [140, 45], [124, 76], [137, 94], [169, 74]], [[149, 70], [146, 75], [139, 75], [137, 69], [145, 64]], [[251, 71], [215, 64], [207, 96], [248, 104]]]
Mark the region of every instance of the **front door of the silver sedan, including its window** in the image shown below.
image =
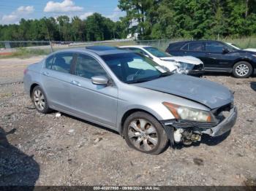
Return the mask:
[[116, 128], [117, 97], [116, 85], [95, 85], [91, 77], [109, 75], [91, 55], [78, 54], [72, 71], [72, 109], [85, 120], [109, 128]]

